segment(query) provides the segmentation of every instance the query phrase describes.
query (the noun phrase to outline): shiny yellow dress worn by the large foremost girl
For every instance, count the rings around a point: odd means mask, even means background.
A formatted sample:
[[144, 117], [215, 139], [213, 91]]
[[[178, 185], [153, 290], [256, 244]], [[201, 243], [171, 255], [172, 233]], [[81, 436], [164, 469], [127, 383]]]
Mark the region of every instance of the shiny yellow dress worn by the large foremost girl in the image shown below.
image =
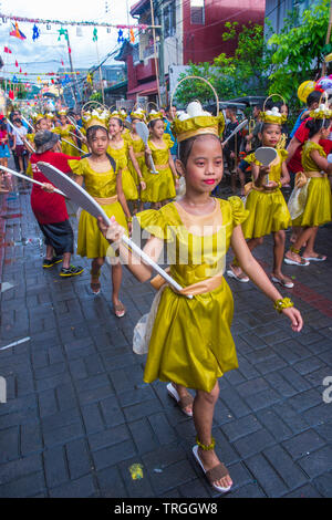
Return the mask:
[[[203, 217], [188, 214], [178, 202], [136, 215], [143, 229], [164, 240], [167, 250], [172, 248], [170, 275], [183, 288], [206, 284], [217, 273], [220, 279], [217, 288], [203, 290], [191, 300], [165, 288], [148, 345], [146, 383], [158, 378], [210, 392], [218, 377], [238, 367], [230, 333], [234, 300], [222, 273], [232, 230], [248, 211], [239, 197], [215, 201], [215, 210]], [[199, 236], [198, 225], [210, 235]], [[188, 254], [185, 261], [181, 252]]]

